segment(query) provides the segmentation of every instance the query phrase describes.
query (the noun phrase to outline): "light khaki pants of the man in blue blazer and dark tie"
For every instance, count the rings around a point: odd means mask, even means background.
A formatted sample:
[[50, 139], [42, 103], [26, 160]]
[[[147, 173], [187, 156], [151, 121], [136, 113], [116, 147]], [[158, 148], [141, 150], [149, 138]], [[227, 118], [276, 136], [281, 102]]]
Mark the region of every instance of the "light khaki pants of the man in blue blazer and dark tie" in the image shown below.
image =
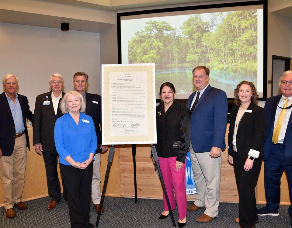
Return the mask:
[[210, 152], [195, 153], [190, 145], [191, 164], [196, 184], [196, 200], [194, 204], [205, 207], [204, 214], [218, 217], [220, 200], [221, 157], [212, 158]]

